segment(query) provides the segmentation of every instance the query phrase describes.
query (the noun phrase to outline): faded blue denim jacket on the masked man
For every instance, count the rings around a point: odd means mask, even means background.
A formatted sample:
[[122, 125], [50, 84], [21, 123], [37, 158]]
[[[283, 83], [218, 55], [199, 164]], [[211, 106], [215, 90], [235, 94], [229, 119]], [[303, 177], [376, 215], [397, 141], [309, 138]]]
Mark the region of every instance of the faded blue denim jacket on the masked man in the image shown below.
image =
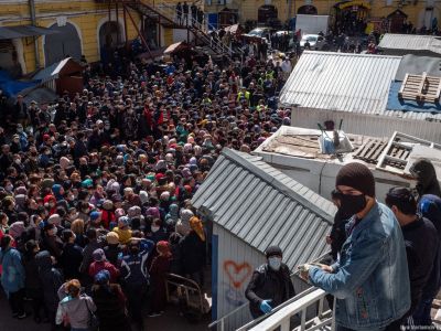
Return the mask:
[[384, 204], [376, 203], [354, 227], [332, 267], [333, 274], [312, 267], [309, 276], [314, 286], [337, 298], [337, 325], [381, 330], [409, 310], [405, 242], [395, 215]]

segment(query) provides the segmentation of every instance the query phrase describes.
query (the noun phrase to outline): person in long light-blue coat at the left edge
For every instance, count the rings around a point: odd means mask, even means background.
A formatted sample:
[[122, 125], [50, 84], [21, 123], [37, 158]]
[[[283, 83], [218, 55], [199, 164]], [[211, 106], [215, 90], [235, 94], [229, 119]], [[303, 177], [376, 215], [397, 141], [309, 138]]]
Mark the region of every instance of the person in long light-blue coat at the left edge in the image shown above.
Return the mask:
[[3, 267], [1, 274], [1, 286], [8, 296], [12, 317], [18, 319], [26, 318], [24, 311], [24, 280], [25, 271], [19, 250], [13, 248], [13, 238], [4, 235], [0, 241], [0, 264]]

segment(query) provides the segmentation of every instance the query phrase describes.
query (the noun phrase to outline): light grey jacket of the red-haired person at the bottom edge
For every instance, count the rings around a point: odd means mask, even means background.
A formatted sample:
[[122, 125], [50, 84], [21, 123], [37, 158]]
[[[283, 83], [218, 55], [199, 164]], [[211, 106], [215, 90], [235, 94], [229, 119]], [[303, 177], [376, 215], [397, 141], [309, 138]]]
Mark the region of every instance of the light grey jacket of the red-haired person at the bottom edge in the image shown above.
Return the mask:
[[86, 295], [82, 295], [78, 298], [67, 296], [58, 303], [56, 323], [61, 324], [63, 317], [67, 317], [72, 329], [87, 329], [90, 311], [96, 311], [96, 306], [90, 297]]

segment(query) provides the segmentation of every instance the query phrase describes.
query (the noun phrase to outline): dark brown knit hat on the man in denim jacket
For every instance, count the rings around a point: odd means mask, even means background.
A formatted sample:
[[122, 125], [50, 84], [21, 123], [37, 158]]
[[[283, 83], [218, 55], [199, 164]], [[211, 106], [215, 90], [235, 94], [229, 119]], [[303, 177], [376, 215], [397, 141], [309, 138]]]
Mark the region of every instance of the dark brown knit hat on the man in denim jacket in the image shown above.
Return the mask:
[[365, 195], [375, 196], [375, 180], [370, 170], [363, 163], [353, 162], [344, 166], [335, 179], [335, 186], [351, 186]]

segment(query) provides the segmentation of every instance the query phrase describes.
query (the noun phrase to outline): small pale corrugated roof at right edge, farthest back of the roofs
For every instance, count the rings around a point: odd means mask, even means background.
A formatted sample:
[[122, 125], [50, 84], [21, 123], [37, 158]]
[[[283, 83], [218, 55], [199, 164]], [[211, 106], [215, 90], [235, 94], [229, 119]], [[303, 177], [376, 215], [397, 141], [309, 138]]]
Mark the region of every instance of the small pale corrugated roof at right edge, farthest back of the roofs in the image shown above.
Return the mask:
[[433, 35], [386, 33], [379, 49], [430, 51], [441, 54], [441, 39]]

